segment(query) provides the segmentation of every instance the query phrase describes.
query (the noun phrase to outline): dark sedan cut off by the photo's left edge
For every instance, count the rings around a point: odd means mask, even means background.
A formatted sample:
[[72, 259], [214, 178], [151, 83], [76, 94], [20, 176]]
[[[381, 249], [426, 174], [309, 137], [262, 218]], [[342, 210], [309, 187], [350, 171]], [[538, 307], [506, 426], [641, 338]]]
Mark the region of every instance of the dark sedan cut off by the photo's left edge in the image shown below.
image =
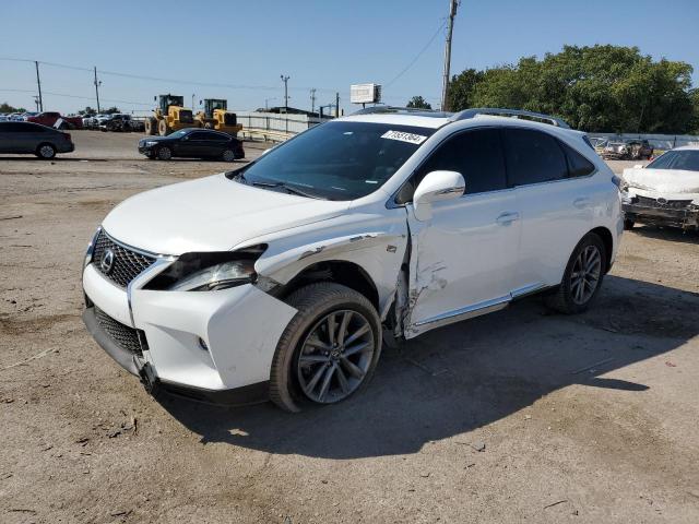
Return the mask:
[[49, 159], [70, 153], [75, 145], [69, 133], [33, 122], [0, 122], [0, 153], [33, 153]]

